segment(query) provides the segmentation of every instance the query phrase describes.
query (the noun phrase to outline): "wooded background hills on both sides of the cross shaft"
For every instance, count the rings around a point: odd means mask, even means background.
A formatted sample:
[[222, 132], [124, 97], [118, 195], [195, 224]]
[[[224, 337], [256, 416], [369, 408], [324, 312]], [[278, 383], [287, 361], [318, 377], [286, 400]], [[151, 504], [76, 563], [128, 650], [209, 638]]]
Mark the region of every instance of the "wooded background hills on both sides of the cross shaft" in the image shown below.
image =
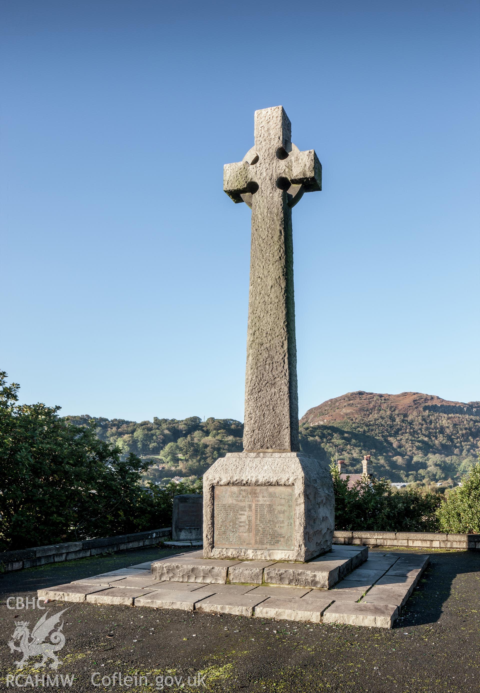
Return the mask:
[[[123, 453], [151, 457], [154, 481], [202, 475], [218, 457], [242, 450], [243, 425], [234, 419], [68, 418], [93, 426]], [[362, 471], [363, 456], [371, 455], [375, 474], [391, 481], [458, 480], [480, 450], [480, 402], [419, 392], [349, 392], [308, 410], [300, 425], [304, 452], [328, 461], [337, 453], [347, 473]]]

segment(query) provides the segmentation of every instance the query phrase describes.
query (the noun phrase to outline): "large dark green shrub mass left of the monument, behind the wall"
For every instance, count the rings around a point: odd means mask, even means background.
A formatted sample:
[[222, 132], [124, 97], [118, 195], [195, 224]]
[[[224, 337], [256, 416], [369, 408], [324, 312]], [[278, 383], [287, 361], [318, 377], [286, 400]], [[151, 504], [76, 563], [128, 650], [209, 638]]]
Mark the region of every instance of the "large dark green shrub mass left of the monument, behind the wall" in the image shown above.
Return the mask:
[[141, 532], [170, 525], [172, 499], [198, 484], [139, 484], [134, 454], [74, 426], [60, 407], [17, 405], [0, 371], [0, 550]]

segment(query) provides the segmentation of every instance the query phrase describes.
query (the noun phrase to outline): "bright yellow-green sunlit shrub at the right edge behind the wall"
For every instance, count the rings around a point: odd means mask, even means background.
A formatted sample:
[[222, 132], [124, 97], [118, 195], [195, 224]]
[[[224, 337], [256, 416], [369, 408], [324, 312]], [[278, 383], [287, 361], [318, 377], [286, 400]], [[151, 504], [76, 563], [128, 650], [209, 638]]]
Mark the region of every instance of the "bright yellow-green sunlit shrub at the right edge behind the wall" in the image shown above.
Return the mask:
[[445, 491], [436, 516], [441, 532], [480, 534], [480, 456], [463, 485]]

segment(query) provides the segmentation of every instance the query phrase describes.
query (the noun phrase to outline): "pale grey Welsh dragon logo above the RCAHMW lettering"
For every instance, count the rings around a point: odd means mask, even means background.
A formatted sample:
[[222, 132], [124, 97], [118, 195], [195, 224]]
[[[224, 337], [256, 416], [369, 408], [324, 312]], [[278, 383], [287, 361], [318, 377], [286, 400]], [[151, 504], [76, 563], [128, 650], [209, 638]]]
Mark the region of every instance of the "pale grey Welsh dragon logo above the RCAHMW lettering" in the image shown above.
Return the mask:
[[[57, 669], [60, 664], [60, 660], [56, 656], [55, 652], [61, 650], [65, 644], [65, 636], [62, 633], [63, 620], [60, 626], [57, 623], [60, 621], [60, 616], [62, 613], [67, 611], [64, 608], [63, 611], [59, 611], [50, 618], [47, 618], [48, 609], [42, 618], [33, 626], [33, 630], [30, 633], [28, 630], [28, 621], [19, 621], [16, 624], [15, 632], [12, 635], [13, 640], [10, 640], [8, 647], [10, 647], [10, 652], [14, 651], [22, 652], [23, 657], [18, 662], [15, 662], [17, 669], [23, 669], [24, 664], [28, 661], [30, 657], [42, 656], [42, 661], [37, 665], [37, 667], [45, 667], [48, 659], [53, 659], [50, 665], [51, 669]], [[55, 631], [51, 633], [51, 631]], [[51, 635], [50, 635], [51, 633]], [[44, 640], [50, 636], [50, 642], [44, 642]], [[15, 640], [20, 641], [20, 647], [17, 647]]]

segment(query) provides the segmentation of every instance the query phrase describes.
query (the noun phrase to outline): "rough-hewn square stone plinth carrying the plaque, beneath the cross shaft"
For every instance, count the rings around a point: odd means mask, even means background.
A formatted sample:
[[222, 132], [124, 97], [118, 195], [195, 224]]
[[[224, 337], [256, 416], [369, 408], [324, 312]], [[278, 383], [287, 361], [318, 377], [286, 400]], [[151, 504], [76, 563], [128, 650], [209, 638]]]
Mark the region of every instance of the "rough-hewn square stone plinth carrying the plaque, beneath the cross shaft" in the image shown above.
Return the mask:
[[303, 453], [228, 453], [204, 474], [204, 557], [308, 561], [332, 546], [325, 463]]

